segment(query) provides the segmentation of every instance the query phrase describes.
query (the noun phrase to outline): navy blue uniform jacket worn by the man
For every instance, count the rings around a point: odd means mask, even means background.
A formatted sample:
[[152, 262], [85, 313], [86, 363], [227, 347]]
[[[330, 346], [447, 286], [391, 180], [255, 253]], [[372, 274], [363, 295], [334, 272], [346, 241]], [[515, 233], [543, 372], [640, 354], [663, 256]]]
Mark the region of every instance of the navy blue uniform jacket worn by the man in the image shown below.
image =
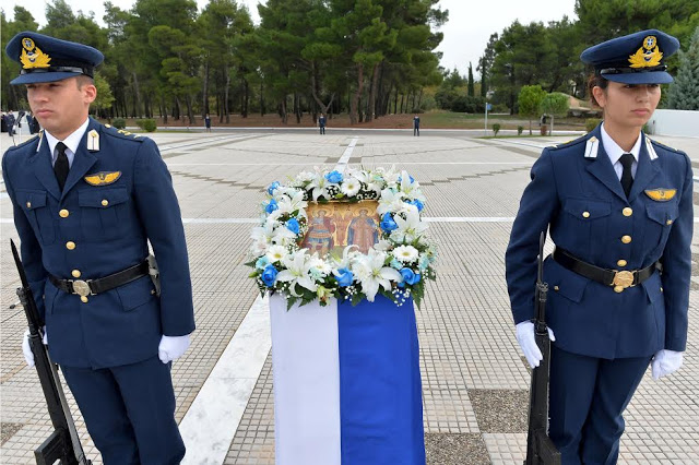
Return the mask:
[[[91, 176], [97, 174], [102, 179]], [[133, 363], [156, 356], [163, 334], [194, 330], [179, 204], [152, 140], [91, 119], [62, 194], [42, 136], [8, 150], [2, 175], [55, 362]], [[87, 302], [47, 279], [48, 274], [93, 279], [119, 272], [147, 257], [147, 241], [159, 266], [159, 298], [149, 276], [88, 296]]]

